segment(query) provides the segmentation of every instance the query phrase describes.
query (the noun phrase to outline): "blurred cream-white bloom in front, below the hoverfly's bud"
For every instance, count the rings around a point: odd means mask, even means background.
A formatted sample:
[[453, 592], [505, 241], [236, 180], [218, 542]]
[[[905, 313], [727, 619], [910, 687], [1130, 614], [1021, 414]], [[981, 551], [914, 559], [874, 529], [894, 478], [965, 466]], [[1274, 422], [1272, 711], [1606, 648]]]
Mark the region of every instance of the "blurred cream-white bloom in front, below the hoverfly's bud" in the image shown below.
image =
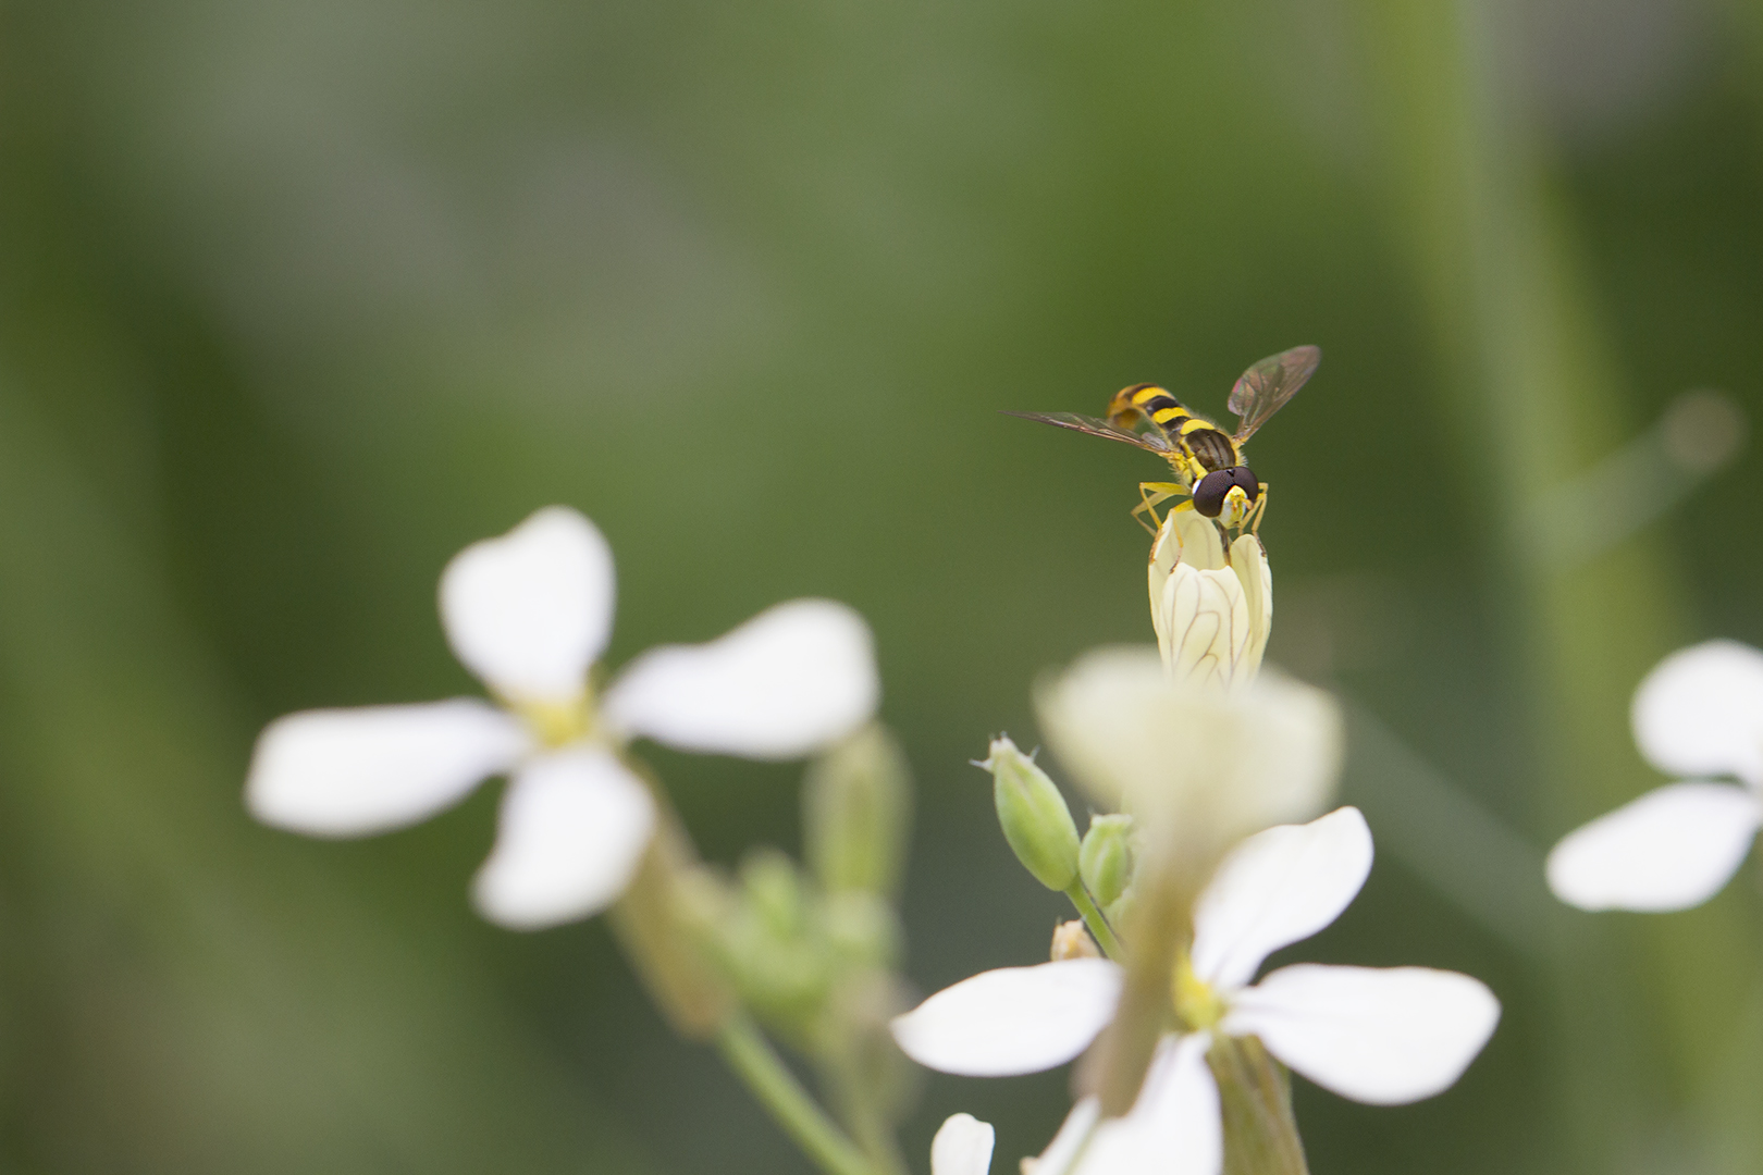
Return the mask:
[[1172, 678], [1149, 648], [1100, 648], [1040, 689], [1035, 708], [1077, 784], [1144, 821], [1151, 846], [1222, 851], [1308, 819], [1340, 772], [1335, 699], [1273, 671], [1225, 692]]

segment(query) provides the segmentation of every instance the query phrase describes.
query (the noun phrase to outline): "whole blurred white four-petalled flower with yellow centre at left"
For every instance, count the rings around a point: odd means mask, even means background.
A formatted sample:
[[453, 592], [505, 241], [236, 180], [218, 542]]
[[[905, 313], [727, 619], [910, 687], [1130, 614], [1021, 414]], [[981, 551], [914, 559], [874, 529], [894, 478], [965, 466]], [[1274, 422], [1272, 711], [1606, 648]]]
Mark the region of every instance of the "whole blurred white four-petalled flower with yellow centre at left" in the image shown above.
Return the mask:
[[649, 842], [656, 807], [619, 757], [628, 740], [788, 759], [874, 712], [869, 629], [813, 599], [707, 645], [654, 648], [596, 698], [589, 671], [612, 632], [612, 551], [573, 509], [541, 509], [467, 546], [441, 574], [441, 620], [501, 706], [455, 698], [277, 719], [252, 757], [250, 812], [356, 837], [414, 824], [506, 772], [472, 897], [502, 925], [548, 927], [617, 898]]

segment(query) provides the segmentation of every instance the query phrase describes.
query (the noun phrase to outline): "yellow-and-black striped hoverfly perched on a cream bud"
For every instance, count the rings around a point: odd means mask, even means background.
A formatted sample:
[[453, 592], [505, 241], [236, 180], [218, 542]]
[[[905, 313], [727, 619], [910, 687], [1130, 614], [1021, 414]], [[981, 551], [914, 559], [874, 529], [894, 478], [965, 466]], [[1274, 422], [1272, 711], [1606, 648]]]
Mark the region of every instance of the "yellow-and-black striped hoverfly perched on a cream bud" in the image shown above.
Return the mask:
[[[1141, 481], [1139, 506], [1132, 516], [1153, 534], [1141, 514], [1157, 518], [1165, 499], [1186, 495], [1174, 509], [1195, 509], [1222, 527], [1255, 534], [1268, 509], [1268, 483], [1259, 481], [1243, 463], [1243, 444], [1268, 418], [1298, 395], [1322, 361], [1319, 347], [1292, 347], [1253, 365], [1231, 389], [1229, 409], [1236, 414], [1236, 432], [1227, 433], [1204, 416], [1188, 412], [1179, 400], [1157, 384], [1121, 388], [1107, 405], [1107, 419], [1075, 412], [1008, 412], [1031, 421], [1086, 432], [1093, 437], [1125, 440], [1169, 462], [1176, 481]], [[1135, 432], [1148, 425], [1144, 432]]]

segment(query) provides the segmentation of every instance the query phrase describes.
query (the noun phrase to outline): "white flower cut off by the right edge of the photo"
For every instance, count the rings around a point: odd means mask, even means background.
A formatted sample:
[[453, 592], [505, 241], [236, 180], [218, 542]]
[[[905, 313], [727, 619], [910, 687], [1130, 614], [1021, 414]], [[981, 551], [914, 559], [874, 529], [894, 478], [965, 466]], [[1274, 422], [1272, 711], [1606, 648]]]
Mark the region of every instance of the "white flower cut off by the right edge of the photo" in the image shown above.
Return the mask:
[[1763, 823], [1763, 652], [1737, 641], [1675, 652], [1641, 682], [1631, 717], [1648, 763], [1703, 779], [1567, 833], [1548, 854], [1548, 884], [1580, 909], [1687, 909], [1719, 893]]

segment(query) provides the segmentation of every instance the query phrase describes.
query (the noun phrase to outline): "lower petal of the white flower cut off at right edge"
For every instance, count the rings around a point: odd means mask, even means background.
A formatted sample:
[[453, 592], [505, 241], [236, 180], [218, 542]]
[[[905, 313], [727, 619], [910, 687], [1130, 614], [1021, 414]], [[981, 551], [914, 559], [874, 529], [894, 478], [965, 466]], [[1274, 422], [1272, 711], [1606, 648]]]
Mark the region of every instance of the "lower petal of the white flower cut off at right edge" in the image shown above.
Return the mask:
[[1737, 872], [1759, 821], [1763, 805], [1745, 787], [1655, 787], [1562, 837], [1548, 888], [1580, 909], [1687, 909]]

